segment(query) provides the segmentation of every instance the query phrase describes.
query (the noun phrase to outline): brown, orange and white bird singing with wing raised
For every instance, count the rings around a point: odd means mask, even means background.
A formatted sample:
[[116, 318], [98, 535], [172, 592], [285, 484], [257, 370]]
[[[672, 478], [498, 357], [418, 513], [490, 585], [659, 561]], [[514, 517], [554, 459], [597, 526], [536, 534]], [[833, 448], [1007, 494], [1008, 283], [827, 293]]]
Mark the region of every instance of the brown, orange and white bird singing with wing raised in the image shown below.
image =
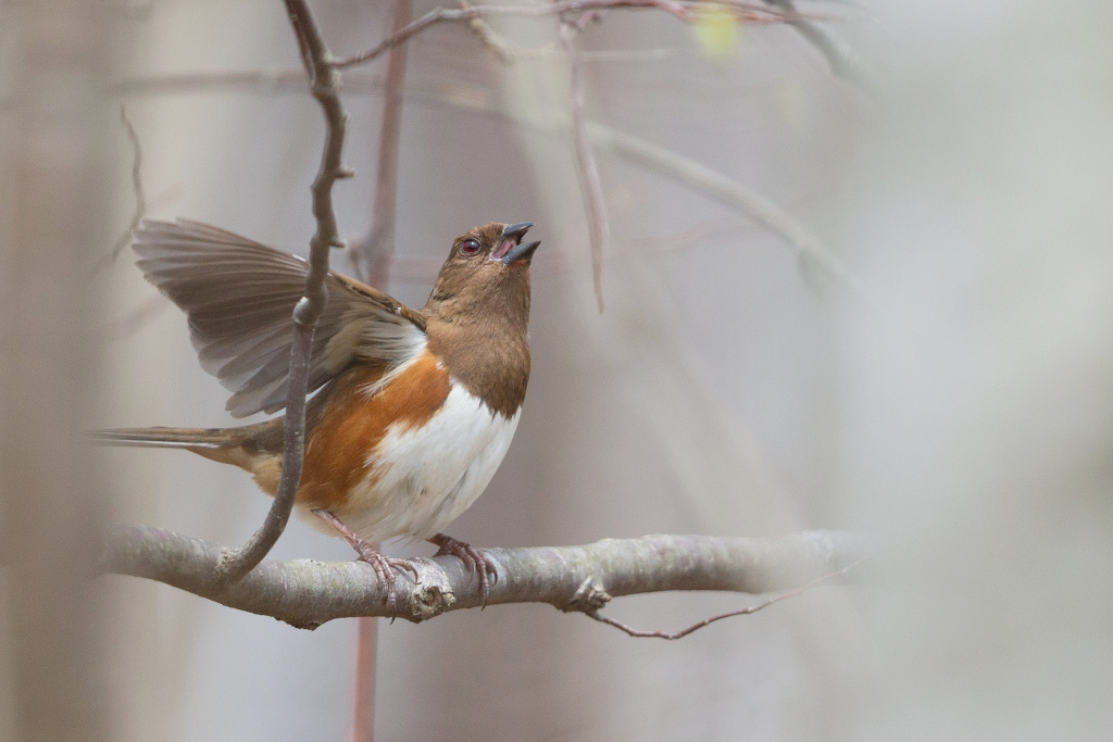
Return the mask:
[[[481, 550], [443, 533], [486, 488], [510, 447], [530, 378], [533, 225], [485, 224], [456, 237], [429, 300], [411, 309], [329, 271], [313, 336], [305, 459], [295, 508], [339, 534], [396, 601], [412, 563], [375, 544], [405, 537], [456, 555], [484, 604], [498, 580]], [[232, 392], [233, 417], [285, 407], [290, 317], [308, 264], [188, 219], [144, 220], [136, 265], [185, 311], [201, 367]], [[105, 444], [184, 448], [250, 473], [274, 495], [284, 416], [224, 428], [97, 432]]]

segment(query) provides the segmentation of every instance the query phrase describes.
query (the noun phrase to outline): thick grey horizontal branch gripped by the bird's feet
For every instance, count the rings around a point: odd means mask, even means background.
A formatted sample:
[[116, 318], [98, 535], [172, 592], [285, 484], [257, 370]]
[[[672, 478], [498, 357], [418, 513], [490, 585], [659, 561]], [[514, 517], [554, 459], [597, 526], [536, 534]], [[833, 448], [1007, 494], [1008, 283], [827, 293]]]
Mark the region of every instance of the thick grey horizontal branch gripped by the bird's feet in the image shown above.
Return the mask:
[[[807, 531], [779, 537], [607, 538], [587, 546], [484, 550], [498, 564], [487, 605], [549, 603], [594, 613], [612, 597], [661, 591], [765, 593], [790, 590], [863, 557], [861, 536]], [[315, 629], [333, 619], [386, 616], [386, 593], [362, 562], [262, 562], [235, 584], [215, 566], [224, 548], [161, 528], [116, 525], [101, 557], [107, 572], [157, 580], [223, 605]], [[398, 617], [424, 621], [479, 607], [473, 574], [454, 556], [413, 560], [420, 582], [397, 581]]]

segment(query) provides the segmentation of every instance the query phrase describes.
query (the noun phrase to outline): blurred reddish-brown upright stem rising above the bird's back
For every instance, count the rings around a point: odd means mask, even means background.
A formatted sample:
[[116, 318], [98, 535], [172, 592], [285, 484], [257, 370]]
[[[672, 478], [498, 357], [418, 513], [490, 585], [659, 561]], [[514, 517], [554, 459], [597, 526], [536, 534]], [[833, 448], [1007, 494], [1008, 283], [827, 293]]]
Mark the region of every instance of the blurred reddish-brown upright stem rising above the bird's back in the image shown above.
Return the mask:
[[[395, 0], [394, 29], [410, 23], [411, 0]], [[353, 246], [352, 261], [359, 277], [376, 288], [386, 288], [394, 257], [397, 217], [398, 140], [402, 133], [402, 88], [406, 73], [406, 44], [391, 48], [383, 90], [383, 126], [378, 136], [378, 176], [367, 237]]]

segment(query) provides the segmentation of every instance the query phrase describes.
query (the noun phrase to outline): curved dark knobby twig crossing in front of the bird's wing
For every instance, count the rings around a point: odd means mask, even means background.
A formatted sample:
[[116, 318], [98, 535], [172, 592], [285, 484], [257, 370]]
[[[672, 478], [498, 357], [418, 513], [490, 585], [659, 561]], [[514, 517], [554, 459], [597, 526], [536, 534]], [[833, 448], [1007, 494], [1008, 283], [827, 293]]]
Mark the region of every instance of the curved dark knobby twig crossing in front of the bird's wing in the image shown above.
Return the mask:
[[309, 72], [309, 88], [325, 116], [324, 154], [312, 187], [313, 216], [317, 220], [317, 231], [309, 240], [309, 273], [305, 279], [305, 296], [294, 307], [282, 478], [263, 526], [244, 546], [225, 550], [221, 558], [213, 565], [214, 574], [221, 582], [235, 582], [255, 568], [289, 522], [305, 457], [305, 397], [313, 333], [328, 298], [325, 290], [328, 250], [332, 247], [343, 247], [333, 211], [333, 185], [336, 180], [353, 175], [352, 170], [341, 164], [347, 115], [341, 107], [338, 96], [339, 72], [305, 0], [286, 0], [286, 11]]

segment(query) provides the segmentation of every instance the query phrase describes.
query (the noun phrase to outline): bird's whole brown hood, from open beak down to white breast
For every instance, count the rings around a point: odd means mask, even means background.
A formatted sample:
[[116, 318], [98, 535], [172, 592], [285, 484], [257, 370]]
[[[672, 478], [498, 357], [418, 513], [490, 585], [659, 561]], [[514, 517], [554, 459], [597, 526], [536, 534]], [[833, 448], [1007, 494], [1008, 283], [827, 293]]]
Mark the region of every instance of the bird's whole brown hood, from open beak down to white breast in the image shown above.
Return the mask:
[[530, 260], [533, 225], [487, 224], [452, 244], [422, 314], [429, 347], [493, 410], [511, 416], [530, 377]]

